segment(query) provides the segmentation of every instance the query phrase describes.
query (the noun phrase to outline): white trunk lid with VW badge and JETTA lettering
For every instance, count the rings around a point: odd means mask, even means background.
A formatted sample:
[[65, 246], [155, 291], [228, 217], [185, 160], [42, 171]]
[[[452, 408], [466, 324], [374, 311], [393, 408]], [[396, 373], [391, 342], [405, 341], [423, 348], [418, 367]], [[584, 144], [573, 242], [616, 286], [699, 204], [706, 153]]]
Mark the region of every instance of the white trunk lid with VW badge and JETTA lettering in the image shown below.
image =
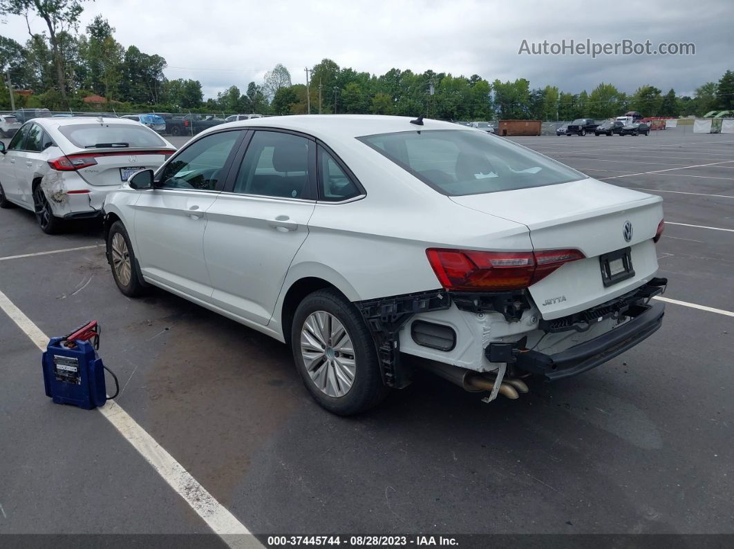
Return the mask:
[[[546, 320], [616, 298], [658, 270], [652, 239], [663, 218], [659, 196], [586, 179], [451, 200], [526, 225], [535, 250], [575, 248], [584, 253], [586, 259], [563, 265], [529, 288]], [[623, 235], [627, 221], [632, 225], [629, 241]], [[605, 286], [600, 256], [628, 247], [634, 275]]]

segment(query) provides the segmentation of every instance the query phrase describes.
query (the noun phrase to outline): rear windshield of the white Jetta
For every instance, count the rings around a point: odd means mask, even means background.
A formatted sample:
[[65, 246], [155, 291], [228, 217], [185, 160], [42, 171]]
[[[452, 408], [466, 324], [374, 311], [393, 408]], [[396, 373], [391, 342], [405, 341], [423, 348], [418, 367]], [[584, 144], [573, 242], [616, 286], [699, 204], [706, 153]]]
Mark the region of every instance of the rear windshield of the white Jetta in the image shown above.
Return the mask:
[[448, 196], [542, 187], [587, 177], [484, 132], [418, 130], [357, 139]]

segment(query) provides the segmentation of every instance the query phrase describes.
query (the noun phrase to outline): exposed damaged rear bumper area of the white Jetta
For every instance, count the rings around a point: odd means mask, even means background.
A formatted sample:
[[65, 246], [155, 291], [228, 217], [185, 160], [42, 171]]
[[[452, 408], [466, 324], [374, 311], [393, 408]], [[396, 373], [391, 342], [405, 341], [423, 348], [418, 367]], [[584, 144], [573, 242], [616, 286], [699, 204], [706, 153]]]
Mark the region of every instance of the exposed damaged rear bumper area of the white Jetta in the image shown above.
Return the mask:
[[661, 327], [665, 310], [664, 303], [650, 300], [666, 284], [653, 278], [553, 320], [542, 319], [523, 290], [436, 290], [355, 304], [377, 344], [385, 384], [407, 386], [415, 363], [468, 391], [491, 391], [492, 400], [526, 392], [524, 377], [553, 381], [578, 375], [647, 339]]

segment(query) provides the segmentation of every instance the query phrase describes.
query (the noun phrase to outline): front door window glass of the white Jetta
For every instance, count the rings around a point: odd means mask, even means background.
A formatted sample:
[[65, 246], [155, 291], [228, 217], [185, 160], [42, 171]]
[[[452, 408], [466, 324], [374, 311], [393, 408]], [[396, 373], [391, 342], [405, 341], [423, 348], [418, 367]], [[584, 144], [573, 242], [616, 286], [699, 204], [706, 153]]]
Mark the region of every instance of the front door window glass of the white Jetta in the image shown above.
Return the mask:
[[216, 191], [217, 183], [226, 176], [222, 170], [240, 136], [239, 131], [214, 133], [186, 147], [163, 169], [156, 188]]

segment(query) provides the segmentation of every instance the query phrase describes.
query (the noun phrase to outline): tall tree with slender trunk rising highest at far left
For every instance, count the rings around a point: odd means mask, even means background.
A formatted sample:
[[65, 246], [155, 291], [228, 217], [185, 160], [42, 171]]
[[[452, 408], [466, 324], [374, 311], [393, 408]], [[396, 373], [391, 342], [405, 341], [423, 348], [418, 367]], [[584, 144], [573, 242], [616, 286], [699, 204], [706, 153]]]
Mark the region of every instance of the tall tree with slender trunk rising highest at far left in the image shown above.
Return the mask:
[[68, 103], [68, 97], [66, 95], [65, 68], [59, 48], [59, 33], [76, 29], [79, 16], [83, 10], [81, 1], [83, 0], [0, 0], [0, 14], [22, 15], [26, 18], [28, 34], [31, 37], [33, 37], [33, 33], [28, 24], [31, 12], [34, 12], [46, 23], [48, 40], [54, 54], [57, 86], [65, 103]]

